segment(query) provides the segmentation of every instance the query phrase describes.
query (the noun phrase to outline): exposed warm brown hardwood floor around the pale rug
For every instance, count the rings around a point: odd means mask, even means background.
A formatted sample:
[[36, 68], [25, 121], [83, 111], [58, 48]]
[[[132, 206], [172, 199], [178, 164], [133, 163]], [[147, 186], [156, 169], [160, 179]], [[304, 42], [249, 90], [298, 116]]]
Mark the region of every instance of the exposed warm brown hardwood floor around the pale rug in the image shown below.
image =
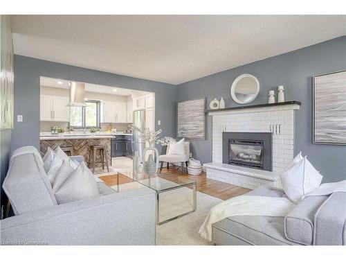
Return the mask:
[[[197, 182], [197, 191], [206, 193], [216, 198], [220, 198], [221, 200], [228, 200], [229, 198], [233, 198], [250, 191], [250, 189], [208, 179], [206, 177], [206, 173], [202, 173], [201, 175], [181, 175], [181, 172], [176, 171], [176, 169], [174, 168], [170, 168], [170, 170], [163, 170], [160, 177], [172, 182], [174, 182], [174, 180], [177, 180], [178, 177], [186, 178], [188, 180], [194, 180]], [[113, 186], [117, 183], [116, 175], [106, 175], [100, 177], [100, 179], [103, 180], [104, 183], [108, 186]], [[125, 175], [120, 175], [119, 184], [124, 184], [127, 182], [133, 182], [133, 180], [131, 180], [129, 177], [126, 177]]]

